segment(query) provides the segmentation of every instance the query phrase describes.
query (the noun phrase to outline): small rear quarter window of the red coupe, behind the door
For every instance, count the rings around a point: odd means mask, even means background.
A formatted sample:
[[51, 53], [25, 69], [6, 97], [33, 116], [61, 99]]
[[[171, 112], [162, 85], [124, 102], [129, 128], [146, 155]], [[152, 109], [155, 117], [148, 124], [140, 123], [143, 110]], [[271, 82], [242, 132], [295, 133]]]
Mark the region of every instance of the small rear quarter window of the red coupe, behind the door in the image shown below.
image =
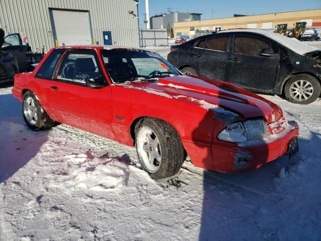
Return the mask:
[[52, 79], [54, 69], [57, 65], [58, 60], [61, 55], [65, 52], [62, 49], [55, 49], [46, 59], [46, 61], [41, 65], [38, 70], [36, 77], [42, 79]]

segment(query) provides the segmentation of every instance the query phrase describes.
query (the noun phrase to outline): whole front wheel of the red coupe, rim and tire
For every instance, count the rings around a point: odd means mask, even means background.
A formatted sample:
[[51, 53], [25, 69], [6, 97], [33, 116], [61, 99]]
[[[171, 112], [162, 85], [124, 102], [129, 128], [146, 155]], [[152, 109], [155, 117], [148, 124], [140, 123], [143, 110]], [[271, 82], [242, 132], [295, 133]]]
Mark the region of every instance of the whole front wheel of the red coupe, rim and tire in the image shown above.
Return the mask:
[[168, 178], [179, 172], [184, 148], [171, 125], [160, 119], [145, 118], [136, 125], [135, 137], [139, 162], [150, 177]]

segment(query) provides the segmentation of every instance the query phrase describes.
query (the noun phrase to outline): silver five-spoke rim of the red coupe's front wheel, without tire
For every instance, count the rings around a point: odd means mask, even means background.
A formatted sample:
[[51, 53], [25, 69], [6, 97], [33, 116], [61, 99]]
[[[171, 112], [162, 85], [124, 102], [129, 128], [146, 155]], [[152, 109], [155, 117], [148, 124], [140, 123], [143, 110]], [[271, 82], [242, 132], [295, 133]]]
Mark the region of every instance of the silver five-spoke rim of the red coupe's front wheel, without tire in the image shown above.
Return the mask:
[[137, 152], [141, 164], [149, 173], [158, 171], [162, 162], [161, 145], [149, 127], [142, 127], [137, 134]]

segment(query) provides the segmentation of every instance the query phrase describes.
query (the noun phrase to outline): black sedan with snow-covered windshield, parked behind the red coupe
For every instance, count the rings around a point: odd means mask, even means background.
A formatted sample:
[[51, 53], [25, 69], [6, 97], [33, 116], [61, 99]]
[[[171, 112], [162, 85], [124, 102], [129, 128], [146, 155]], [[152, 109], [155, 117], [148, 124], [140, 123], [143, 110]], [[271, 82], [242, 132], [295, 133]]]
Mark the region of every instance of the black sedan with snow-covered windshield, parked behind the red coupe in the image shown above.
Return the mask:
[[168, 60], [185, 74], [282, 94], [299, 104], [321, 92], [321, 51], [264, 30], [229, 30], [172, 46]]

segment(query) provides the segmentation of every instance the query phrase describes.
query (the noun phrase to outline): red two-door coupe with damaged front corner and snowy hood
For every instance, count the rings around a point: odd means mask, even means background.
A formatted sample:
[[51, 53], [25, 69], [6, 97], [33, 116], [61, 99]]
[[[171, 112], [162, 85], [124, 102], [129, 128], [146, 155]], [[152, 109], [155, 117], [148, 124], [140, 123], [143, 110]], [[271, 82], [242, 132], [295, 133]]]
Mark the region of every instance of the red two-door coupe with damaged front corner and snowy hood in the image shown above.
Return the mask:
[[187, 155], [197, 167], [241, 172], [298, 150], [298, 126], [276, 104], [140, 49], [54, 48], [15, 75], [12, 93], [31, 129], [64, 123], [135, 146], [155, 179], [176, 174]]

